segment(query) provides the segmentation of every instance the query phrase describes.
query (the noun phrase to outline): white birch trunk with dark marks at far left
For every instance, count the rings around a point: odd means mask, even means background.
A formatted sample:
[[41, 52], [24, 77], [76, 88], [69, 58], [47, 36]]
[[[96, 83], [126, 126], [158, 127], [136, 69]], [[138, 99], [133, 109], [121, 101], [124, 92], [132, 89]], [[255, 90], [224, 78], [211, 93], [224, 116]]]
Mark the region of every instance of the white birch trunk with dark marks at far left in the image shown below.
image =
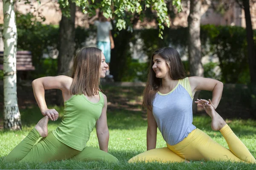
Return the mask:
[[17, 102], [17, 28], [14, 0], [3, 0], [3, 96], [4, 128], [21, 129], [20, 111]]

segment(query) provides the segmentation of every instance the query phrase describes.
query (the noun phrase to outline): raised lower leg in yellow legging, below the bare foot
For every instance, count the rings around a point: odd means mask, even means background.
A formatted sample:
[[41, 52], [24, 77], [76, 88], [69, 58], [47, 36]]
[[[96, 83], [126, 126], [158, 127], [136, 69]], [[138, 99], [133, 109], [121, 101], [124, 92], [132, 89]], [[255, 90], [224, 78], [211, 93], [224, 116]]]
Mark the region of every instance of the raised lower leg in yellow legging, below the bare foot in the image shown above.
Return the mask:
[[241, 140], [236, 136], [236, 134], [231, 130], [228, 125], [225, 125], [220, 130], [224, 139], [226, 140], [228, 147], [231, 152], [236, 155], [239, 159], [249, 162], [256, 163], [255, 158], [247, 149], [247, 147], [241, 142]]

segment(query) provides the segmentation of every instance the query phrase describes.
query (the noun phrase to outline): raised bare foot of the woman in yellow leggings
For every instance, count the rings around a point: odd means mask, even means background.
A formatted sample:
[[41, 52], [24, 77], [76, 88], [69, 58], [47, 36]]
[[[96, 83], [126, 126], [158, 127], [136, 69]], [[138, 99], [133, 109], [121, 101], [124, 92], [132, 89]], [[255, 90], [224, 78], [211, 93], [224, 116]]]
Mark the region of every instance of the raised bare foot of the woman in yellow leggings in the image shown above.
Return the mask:
[[212, 130], [221, 130], [227, 123], [222, 119], [222, 117], [214, 110], [212, 105], [208, 103], [204, 106], [206, 113], [212, 118]]

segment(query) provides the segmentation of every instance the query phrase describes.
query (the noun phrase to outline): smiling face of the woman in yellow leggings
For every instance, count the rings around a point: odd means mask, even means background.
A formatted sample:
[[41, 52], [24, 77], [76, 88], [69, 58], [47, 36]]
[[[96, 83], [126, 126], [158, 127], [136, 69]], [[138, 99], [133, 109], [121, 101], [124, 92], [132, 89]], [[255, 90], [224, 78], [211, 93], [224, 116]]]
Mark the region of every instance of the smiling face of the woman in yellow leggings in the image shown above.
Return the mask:
[[169, 67], [166, 64], [166, 61], [160, 57], [158, 54], [153, 57], [153, 71], [156, 74], [157, 78], [168, 78], [169, 76]]

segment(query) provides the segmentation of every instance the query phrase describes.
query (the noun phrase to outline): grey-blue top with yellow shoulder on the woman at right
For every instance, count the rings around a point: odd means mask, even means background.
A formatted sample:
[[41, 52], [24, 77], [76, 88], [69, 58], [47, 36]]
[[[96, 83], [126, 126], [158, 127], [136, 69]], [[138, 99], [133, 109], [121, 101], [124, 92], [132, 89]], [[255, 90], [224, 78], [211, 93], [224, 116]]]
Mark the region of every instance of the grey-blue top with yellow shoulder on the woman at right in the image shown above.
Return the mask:
[[157, 92], [153, 101], [153, 115], [163, 139], [175, 145], [196, 127], [192, 124], [193, 96], [189, 78], [180, 79], [168, 94]]

